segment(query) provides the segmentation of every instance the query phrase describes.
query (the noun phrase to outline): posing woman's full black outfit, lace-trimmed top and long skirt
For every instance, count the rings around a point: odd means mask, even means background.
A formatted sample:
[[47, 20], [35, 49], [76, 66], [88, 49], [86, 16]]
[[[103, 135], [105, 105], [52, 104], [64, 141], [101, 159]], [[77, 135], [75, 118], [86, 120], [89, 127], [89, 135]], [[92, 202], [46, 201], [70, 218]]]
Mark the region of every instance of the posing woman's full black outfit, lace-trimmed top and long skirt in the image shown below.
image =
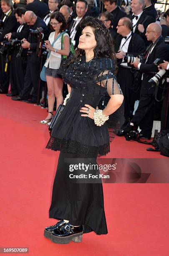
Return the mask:
[[[85, 61], [80, 56], [68, 67], [60, 69], [64, 82], [71, 86], [66, 107], [55, 124], [47, 148], [61, 151], [53, 184], [49, 216], [66, 219], [72, 225], [83, 225], [83, 233], [95, 231], [106, 234], [102, 184], [68, 182], [66, 158], [83, 158], [96, 164], [96, 157], [110, 151], [108, 126], [96, 126], [94, 120], [82, 117], [79, 111], [85, 104], [96, 108], [105, 105], [108, 95], [122, 94], [114, 76], [111, 59]], [[120, 128], [123, 111], [117, 110], [110, 117], [111, 128]], [[85, 161], [85, 160], [84, 160]]]

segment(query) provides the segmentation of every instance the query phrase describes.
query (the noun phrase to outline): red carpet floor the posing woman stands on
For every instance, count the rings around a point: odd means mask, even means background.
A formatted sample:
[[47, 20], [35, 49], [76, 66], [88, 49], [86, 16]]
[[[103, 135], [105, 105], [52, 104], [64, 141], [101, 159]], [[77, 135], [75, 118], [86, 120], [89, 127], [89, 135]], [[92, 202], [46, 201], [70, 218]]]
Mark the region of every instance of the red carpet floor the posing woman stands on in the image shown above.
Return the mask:
[[[43, 237], [58, 152], [45, 149], [46, 110], [0, 95], [0, 247], [29, 247], [29, 255], [169, 255], [169, 184], [103, 184], [108, 234], [59, 245]], [[116, 137], [107, 157], [165, 158]]]

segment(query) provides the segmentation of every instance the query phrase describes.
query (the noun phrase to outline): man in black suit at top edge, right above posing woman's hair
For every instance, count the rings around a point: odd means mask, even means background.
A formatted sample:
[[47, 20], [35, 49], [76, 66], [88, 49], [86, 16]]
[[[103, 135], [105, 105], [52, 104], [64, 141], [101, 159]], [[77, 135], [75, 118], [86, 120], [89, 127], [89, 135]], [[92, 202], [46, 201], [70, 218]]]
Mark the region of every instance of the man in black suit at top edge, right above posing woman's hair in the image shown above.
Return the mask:
[[103, 0], [104, 8], [113, 14], [113, 30], [117, 33], [117, 24], [119, 20], [126, 16], [126, 13], [117, 5], [117, 0]]

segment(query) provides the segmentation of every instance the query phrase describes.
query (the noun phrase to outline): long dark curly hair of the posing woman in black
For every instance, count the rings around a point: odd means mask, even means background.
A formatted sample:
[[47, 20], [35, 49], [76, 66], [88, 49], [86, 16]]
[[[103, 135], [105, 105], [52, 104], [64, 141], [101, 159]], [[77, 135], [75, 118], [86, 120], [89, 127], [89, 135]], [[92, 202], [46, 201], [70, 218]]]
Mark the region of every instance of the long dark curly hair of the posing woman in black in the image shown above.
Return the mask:
[[[96, 40], [96, 47], [93, 49], [94, 58], [109, 58], [113, 59], [116, 63], [114, 42], [112, 40], [110, 31], [104, 26], [103, 22], [98, 20], [98, 18], [87, 16], [81, 20], [80, 26], [82, 29], [87, 26], [93, 28], [93, 33]], [[75, 56], [73, 56], [69, 64], [73, 63], [80, 55], [85, 55], [85, 51], [82, 49], [76, 50]]]

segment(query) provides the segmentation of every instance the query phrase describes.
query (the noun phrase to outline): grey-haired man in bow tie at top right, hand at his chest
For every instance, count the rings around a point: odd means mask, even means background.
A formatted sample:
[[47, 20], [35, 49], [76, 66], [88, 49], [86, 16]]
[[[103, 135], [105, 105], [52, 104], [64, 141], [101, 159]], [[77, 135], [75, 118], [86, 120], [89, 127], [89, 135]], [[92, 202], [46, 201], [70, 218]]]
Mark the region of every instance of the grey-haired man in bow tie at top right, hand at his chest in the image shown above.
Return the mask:
[[133, 32], [139, 34], [144, 40], [145, 44], [148, 45], [148, 41], [146, 39], [146, 28], [150, 23], [154, 22], [154, 18], [146, 15], [143, 12], [145, 6], [145, 0], [132, 0], [131, 10], [132, 13], [128, 15], [128, 17], [132, 21]]

